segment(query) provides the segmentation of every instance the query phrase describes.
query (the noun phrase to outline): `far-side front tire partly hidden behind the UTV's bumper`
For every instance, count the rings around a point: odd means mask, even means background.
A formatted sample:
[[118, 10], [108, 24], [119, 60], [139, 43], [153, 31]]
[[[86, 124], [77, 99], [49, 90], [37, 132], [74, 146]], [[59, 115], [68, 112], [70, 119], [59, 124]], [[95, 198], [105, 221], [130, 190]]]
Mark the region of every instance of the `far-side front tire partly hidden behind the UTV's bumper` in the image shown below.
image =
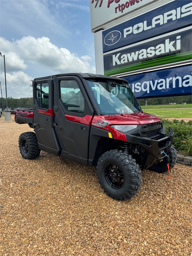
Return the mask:
[[[177, 161], [177, 152], [173, 145], [170, 147], [167, 155], [169, 156], [169, 169], [171, 170]], [[166, 173], [168, 171], [167, 158], [165, 157], [163, 161], [153, 164], [151, 167], [149, 167], [149, 170], [156, 173]]]

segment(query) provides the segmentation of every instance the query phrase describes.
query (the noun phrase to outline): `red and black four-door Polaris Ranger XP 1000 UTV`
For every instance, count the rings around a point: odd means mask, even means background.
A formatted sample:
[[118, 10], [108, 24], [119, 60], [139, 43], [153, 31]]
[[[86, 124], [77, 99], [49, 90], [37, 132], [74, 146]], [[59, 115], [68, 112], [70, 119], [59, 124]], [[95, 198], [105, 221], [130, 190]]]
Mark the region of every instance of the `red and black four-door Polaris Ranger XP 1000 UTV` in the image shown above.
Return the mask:
[[[167, 172], [176, 163], [174, 132], [159, 117], [144, 113], [128, 82], [94, 74], [58, 74], [35, 78], [33, 107], [16, 109], [25, 159], [40, 151], [96, 166], [99, 183], [116, 200], [140, 188], [141, 170]], [[140, 168], [139, 168], [140, 166]]]

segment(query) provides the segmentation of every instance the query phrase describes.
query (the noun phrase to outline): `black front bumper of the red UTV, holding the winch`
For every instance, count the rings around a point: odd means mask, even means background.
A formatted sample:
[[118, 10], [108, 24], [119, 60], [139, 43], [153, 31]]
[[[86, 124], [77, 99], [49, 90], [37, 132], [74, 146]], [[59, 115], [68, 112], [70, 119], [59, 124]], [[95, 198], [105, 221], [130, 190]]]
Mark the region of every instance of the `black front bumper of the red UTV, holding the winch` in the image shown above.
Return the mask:
[[133, 143], [145, 150], [145, 157], [142, 163], [142, 170], [151, 167], [159, 159], [163, 159], [173, 143], [174, 132], [169, 127], [169, 134], [159, 140], [152, 140], [146, 137], [132, 135]]

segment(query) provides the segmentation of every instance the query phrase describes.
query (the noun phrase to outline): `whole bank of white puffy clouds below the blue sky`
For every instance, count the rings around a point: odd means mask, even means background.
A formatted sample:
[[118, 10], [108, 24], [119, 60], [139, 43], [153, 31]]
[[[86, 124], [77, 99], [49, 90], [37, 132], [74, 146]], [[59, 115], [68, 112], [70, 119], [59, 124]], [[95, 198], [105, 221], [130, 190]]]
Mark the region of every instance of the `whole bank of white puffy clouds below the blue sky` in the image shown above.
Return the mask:
[[[52, 44], [47, 37], [34, 38], [32, 36], [23, 37], [20, 40], [13, 40], [12, 42], [6, 40], [5, 38], [0, 38], [0, 44], [2, 49], [2, 54], [5, 54], [6, 59], [6, 77], [7, 77], [7, 96], [12, 96], [13, 98], [20, 97], [31, 97], [32, 91], [28, 86], [18, 86], [18, 89], [14, 89], [14, 86], [33, 78], [28, 74], [24, 73], [28, 66], [41, 67], [51, 71], [47, 75], [52, 75], [53, 73], [70, 73], [70, 72], [92, 72], [95, 71], [95, 67], [89, 64], [92, 58], [88, 55], [77, 56], [75, 53], [70, 53], [66, 48], [58, 48]], [[3, 61], [1, 62], [1, 71], [3, 68]], [[34, 77], [39, 77], [39, 74]], [[42, 74], [43, 76], [44, 74]], [[4, 89], [4, 72], [1, 72], [1, 84]], [[41, 76], [41, 75], [40, 75]], [[12, 87], [13, 88], [8, 88]], [[20, 87], [20, 88], [19, 88]], [[16, 87], [15, 87], [16, 88]], [[13, 90], [12, 90], [13, 89]], [[3, 92], [5, 92], [3, 90]], [[5, 93], [4, 93], [5, 94]], [[5, 95], [3, 96], [5, 97]]]

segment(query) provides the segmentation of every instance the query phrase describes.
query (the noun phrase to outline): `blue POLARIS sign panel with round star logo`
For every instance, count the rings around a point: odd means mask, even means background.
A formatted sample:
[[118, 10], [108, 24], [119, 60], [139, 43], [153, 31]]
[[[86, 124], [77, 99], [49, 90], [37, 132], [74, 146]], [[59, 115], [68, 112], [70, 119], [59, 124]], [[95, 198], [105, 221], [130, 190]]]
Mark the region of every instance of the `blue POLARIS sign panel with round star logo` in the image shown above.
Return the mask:
[[191, 24], [191, 0], [176, 0], [153, 11], [106, 29], [103, 52], [161, 35]]

